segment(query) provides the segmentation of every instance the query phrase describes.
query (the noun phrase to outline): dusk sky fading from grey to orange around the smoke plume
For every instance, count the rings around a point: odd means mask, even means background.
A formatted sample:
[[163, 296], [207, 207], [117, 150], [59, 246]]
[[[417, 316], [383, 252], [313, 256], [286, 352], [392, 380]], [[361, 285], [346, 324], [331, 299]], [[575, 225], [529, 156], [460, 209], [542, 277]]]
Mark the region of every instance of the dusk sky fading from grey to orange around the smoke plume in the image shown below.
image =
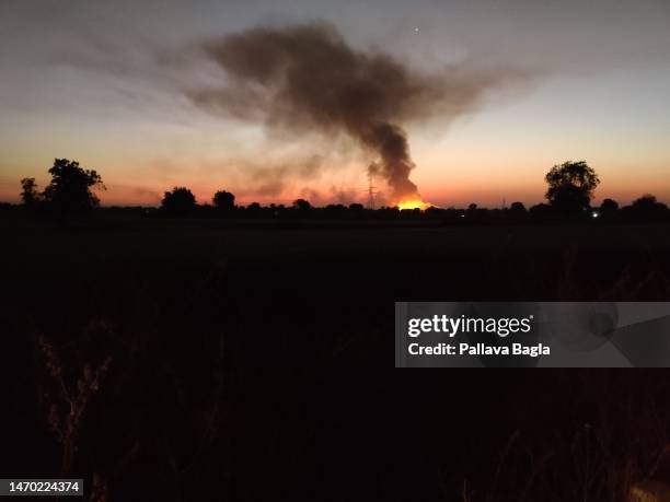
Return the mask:
[[398, 124], [424, 200], [538, 203], [552, 165], [585, 160], [596, 201], [670, 202], [668, 0], [2, 0], [0, 200], [18, 201], [23, 177], [44, 187], [67, 157], [102, 175], [105, 206], [158, 205], [173, 186], [203, 203], [218, 189], [239, 203], [366, 202], [374, 152], [346, 131], [192, 98], [229, 82], [204, 44], [313, 22], [416, 74], [500, 75], [462, 113], [436, 103]]

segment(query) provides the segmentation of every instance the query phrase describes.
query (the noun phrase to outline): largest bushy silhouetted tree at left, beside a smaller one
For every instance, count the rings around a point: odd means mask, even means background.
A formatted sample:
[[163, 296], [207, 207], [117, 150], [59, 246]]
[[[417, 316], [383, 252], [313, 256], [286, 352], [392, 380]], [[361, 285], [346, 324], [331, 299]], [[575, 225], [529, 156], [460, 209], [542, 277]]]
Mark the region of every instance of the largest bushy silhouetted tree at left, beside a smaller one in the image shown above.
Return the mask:
[[51, 209], [62, 213], [81, 212], [100, 203], [91, 189], [104, 190], [105, 186], [94, 170], [84, 170], [79, 162], [55, 159], [49, 174], [51, 182], [44, 189], [43, 197]]

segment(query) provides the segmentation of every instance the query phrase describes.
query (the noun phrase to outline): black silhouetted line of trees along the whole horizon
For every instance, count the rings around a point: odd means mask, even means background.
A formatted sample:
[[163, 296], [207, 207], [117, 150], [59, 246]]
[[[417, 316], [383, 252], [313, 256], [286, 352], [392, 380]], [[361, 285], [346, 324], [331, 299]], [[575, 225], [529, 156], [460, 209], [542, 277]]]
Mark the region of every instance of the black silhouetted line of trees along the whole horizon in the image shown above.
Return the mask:
[[[24, 208], [60, 215], [82, 213], [100, 206], [94, 190], [104, 190], [101, 175], [86, 170], [78, 162], [56, 159], [48, 170], [51, 176], [47, 187], [39, 191], [35, 178], [21, 180], [21, 200]], [[305, 199], [297, 199], [290, 206], [270, 203], [261, 206], [235, 205], [235, 196], [227, 190], [218, 190], [211, 203], [198, 205], [193, 192], [186, 187], [174, 187], [164, 192], [158, 209], [142, 208], [145, 213], [168, 217], [212, 217], [212, 218], [323, 218], [323, 219], [420, 219], [440, 218], [444, 220], [588, 220], [603, 221], [670, 221], [670, 210], [652, 195], [643, 195], [629, 206], [620, 208], [619, 203], [605, 198], [599, 207], [592, 207], [593, 192], [600, 184], [597, 173], [586, 162], [564, 162], [554, 165], [544, 177], [547, 184], [546, 203], [529, 209], [522, 202], [512, 202], [509, 208], [482, 209], [471, 203], [466, 209], [430, 207], [426, 210], [382, 207], [368, 209], [361, 203], [327, 205], [314, 207]]]

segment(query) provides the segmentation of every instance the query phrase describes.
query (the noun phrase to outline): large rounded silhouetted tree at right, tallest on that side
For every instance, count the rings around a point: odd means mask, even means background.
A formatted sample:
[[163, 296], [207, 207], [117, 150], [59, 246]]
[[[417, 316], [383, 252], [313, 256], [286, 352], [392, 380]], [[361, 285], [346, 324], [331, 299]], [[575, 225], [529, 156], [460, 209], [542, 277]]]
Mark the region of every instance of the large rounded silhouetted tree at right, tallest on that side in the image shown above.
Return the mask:
[[564, 214], [581, 214], [589, 207], [600, 183], [596, 171], [584, 161], [555, 165], [544, 177], [548, 184], [545, 197]]

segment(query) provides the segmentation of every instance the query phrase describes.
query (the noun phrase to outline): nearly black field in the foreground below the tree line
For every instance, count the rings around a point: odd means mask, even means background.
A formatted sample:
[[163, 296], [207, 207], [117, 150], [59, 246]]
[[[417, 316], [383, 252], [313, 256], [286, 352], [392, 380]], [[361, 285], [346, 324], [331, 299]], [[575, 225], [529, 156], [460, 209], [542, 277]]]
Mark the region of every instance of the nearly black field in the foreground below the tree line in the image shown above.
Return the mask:
[[668, 225], [0, 225], [8, 476], [95, 474], [123, 501], [623, 500], [667, 441], [667, 372], [394, 370], [393, 302], [670, 301]]

